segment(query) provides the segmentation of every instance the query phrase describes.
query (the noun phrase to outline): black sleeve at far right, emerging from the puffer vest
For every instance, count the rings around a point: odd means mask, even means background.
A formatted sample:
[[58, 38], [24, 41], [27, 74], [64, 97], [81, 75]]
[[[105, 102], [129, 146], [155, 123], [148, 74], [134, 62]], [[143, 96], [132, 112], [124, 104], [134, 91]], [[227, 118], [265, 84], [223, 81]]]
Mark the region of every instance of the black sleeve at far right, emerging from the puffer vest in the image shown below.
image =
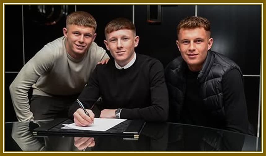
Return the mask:
[[230, 70], [223, 78], [226, 129], [247, 133], [248, 116], [242, 75], [236, 69]]

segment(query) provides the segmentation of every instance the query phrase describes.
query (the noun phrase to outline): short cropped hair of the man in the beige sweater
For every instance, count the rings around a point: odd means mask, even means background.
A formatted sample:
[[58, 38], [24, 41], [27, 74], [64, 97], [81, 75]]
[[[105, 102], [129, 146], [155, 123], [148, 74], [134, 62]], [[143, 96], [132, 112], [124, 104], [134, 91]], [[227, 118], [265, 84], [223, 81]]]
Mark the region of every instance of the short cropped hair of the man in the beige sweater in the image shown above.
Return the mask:
[[92, 15], [85, 11], [76, 11], [67, 16], [66, 27], [68, 25], [78, 25], [84, 27], [92, 27], [96, 30], [97, 23]]

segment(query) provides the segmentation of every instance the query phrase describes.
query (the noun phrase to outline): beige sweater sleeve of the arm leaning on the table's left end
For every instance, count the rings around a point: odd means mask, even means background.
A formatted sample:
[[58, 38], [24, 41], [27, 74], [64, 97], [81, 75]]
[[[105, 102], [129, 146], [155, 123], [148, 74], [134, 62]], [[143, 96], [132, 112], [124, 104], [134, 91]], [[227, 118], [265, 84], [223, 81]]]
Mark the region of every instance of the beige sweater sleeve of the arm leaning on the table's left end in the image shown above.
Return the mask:
[[33, 113], [30, 112], [28, 90], [41, 75], [52, 67], [53, 62], [52, 50], [48, 46], [44, 46], [23, 66], [9, 86], [12, 103], [19, 121], [34, 119]]

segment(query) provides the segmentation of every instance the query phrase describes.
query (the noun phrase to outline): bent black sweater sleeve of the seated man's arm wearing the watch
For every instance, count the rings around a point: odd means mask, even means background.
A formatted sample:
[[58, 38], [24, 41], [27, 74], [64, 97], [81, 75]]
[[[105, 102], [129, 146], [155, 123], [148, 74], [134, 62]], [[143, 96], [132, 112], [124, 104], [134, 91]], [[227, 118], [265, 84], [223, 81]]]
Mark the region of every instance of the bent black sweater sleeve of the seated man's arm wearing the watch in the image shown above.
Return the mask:
[[145, 121], [166, 121], [168, 118], [168, 91], [164, 79], [163, 65], [155, 61], [149, 71], [151, 104], [145, 108], [122, 108], [120, 117], [124, 119], [144, 119]]

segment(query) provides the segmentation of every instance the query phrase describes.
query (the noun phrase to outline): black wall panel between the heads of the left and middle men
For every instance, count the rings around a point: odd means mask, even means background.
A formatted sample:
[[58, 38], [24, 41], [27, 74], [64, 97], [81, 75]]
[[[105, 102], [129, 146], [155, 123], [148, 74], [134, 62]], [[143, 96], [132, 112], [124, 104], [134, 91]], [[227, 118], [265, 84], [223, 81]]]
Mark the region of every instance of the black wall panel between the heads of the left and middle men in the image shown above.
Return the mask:
[[[132, 20], [132, 10], [132, 5], [77, 5], [77, 11], [87, 11], [95, 18], [97, 22], [95, 42], [105, 50], [107, 49], [103, 40], [105, 40], [104, 28], [106, 24], [119, 17]], [[107, 51], [107, 53], [111, 57], [110, 52]]]

